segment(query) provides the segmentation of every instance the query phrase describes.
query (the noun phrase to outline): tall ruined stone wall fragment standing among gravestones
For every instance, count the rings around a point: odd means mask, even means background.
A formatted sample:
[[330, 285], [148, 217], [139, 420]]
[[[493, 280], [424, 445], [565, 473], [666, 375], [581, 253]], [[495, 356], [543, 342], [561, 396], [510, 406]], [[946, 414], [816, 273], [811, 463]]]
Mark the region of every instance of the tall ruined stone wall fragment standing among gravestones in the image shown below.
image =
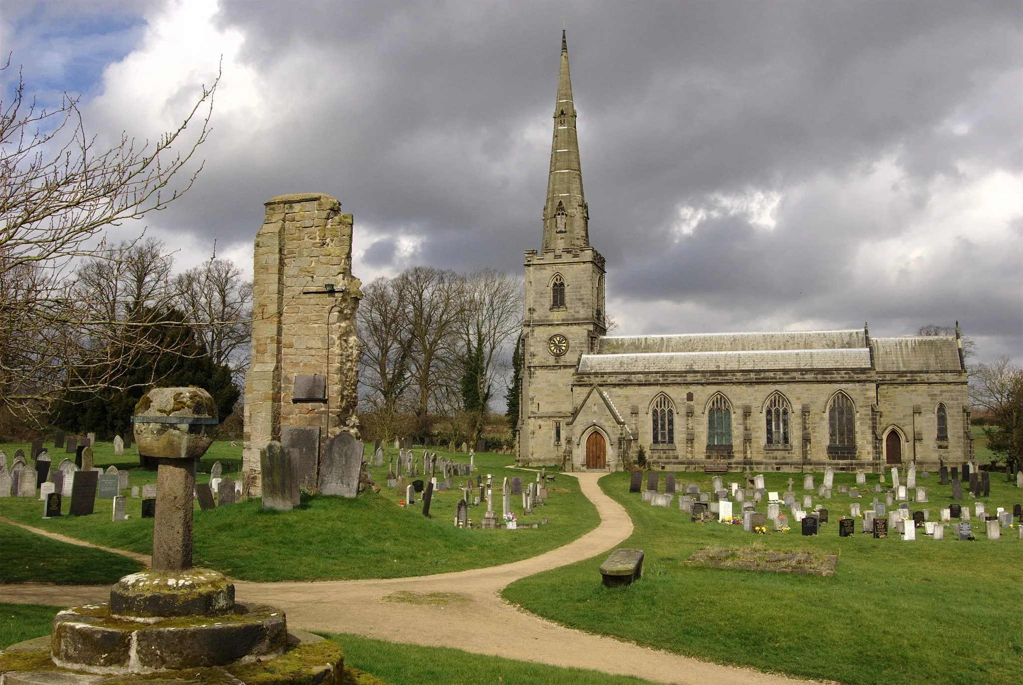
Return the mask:
[[[320, 427], [322, 445], [342, 430], [359, 437], [361, 281], [352, 276], [352, 215], [322, 193], [279, 195], [253, 256], [252, 361], [246, 374], [242, 471], [259, 495], [260, 450], [285, 426]], [[296, 399], [298, 376], [326, 377], [325, 399]], [[302, 393], [309, 395], [309, 393]]]

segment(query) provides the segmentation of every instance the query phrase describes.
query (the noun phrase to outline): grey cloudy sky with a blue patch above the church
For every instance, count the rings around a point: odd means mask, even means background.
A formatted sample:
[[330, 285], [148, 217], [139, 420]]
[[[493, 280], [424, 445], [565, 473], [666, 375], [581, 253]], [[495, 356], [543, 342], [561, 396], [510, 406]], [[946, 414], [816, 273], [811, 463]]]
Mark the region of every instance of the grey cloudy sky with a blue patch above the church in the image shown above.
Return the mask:
[[1023, 362], [1019, 2], [4, 0], [0, 45], [101, 140], [172, 127], [222, 62], [199, 182], [150, 233], [251, 271], [262, 202], [322, 191], [367, 281], [521, 273], [563, 16], [616, 332], [958, 319]]

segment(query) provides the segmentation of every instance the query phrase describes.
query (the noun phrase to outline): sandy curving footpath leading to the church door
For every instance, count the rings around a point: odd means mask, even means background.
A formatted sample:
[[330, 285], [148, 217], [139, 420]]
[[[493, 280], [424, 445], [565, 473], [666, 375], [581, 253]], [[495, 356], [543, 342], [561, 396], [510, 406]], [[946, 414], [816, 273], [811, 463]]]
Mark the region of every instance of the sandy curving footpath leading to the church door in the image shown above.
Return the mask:
[[[551, 666], [635, 676], [659, 683], [767, 685], [806, 683], [750, 669], [719, 666], [591, 635], [540, 619], [504, 601], [513, 581], [588, 559], [632, 534], [624, 507], [597, 485], [603, 473], [564, 473], [579, 478], [596, 506], [601, 524], [549, 552], [499, 566], [452, 574], [365, 581], [301, 583], [235, 582], [241, 601], [279, 606], [288, 626], [350, 633], [390, 642], [455, 647]], [[594, 579], [594, 582], [597, 582]], [[7, 602], [70, 605], [103, 601], [108, 586], [0, 586]], [[432, 593], [433, 597], [428, 597]], [[436, 602], [436, 603], [434, 603]]]

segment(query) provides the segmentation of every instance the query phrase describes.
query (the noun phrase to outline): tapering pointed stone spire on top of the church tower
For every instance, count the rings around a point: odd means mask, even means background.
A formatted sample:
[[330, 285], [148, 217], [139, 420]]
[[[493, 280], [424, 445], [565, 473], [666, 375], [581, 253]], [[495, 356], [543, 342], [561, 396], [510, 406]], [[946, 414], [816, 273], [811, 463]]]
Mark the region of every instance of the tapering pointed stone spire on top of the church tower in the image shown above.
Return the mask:
[[554, 136], [550, 144], [547, 202], [543, 208], [543, 249], [589, 245], [589, 214], [582, 194], [576, 110], [569, 77], [569, 47], [562, 30], [562, 64], [554, 101]]

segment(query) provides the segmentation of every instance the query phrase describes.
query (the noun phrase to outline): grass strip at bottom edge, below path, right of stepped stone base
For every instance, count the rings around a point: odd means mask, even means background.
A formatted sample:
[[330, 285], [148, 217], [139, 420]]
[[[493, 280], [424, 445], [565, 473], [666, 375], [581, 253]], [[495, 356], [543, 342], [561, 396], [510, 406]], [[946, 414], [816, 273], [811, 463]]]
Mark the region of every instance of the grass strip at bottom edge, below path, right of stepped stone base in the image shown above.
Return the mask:
[[447, 647], [419, 647], [323, 633], [341, 645], [345, 664], [389, 685], [638, 685], [650, 681], [597, 671], [484, 656]]

